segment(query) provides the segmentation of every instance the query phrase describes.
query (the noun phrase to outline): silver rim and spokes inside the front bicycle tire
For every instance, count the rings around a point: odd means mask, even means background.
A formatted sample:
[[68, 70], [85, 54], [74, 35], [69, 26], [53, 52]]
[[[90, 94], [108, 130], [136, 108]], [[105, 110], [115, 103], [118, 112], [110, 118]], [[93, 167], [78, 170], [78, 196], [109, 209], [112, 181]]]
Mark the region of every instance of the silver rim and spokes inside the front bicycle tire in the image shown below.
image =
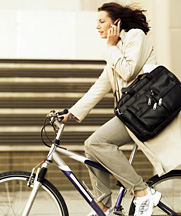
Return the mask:
[[[26, 177], [11, 177], [0, 181], [0, 215], [22, 215], [32, 190], [27, 186], [26, 179]], [[62, 215], [56, 198], [47, 187], [42, 186], [38, 192], [29, 215]]]

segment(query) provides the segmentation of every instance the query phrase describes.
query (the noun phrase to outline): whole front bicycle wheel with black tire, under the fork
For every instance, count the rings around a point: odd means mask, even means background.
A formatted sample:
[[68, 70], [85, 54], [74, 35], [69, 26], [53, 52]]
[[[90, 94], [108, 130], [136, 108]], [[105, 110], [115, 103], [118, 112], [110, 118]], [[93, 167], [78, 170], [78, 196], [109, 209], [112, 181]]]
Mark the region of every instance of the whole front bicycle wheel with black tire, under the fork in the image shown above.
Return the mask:
[[[24, 171], [0, 174], [0, 215], [22, 215], [32, 191], [32, 188], [27, 186], [30, 175], [30, 172]], [[29, 215], [68, 216], [69, 214], [59, 191], [45, 179]]]

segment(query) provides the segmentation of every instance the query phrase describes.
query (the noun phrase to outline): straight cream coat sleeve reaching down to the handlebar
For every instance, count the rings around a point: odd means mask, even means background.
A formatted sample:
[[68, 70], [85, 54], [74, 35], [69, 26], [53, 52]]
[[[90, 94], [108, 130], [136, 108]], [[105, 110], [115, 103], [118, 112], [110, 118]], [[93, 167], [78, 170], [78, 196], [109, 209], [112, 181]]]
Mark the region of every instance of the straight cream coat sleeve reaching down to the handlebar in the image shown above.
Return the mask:
[[111, 90], [107, 68], [88, 90], [88, 92], [78, 102], [69, 109], [78, 122], [81, 122], [90, 110]]

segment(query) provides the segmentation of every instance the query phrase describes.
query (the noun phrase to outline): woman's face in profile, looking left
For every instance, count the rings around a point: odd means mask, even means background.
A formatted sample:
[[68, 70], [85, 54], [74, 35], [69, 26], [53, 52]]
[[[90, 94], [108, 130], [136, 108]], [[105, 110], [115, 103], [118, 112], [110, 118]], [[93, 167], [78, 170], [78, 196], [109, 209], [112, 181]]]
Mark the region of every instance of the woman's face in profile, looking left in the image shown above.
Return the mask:
[[106, 11], [99, 11], [97, 14], [96, 29], [98, 30], [100, 37], [102, 39], [107, 38], [107, 31], [109, 28], [111, 28], [111, 24], [113, 24], [113, 21], [108, 16], [108, 13]]

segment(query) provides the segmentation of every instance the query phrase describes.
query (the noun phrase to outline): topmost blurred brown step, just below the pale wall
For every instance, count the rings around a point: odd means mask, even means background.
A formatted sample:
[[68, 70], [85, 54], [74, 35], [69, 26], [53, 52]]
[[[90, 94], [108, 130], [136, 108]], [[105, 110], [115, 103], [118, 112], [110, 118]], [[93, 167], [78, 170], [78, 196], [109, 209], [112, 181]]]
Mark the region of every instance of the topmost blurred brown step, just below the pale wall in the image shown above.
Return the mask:
[[103, 61], [0, 60], [0, 77], [88, 77], [97, 78]]

